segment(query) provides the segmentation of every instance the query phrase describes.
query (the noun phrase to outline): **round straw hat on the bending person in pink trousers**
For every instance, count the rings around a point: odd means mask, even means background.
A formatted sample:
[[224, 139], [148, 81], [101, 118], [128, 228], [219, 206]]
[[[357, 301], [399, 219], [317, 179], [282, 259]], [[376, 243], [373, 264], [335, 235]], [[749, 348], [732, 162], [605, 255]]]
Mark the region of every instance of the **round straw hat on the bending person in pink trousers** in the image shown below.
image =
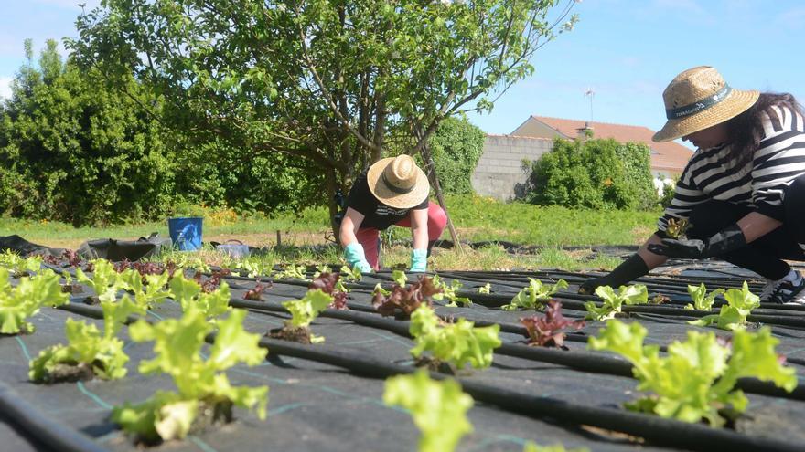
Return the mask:
[[366, 174], [369, 190], [384, 205], [410, 209], [422, 204], [431, 190], [427, 176], [410, 155], [375, 162]]

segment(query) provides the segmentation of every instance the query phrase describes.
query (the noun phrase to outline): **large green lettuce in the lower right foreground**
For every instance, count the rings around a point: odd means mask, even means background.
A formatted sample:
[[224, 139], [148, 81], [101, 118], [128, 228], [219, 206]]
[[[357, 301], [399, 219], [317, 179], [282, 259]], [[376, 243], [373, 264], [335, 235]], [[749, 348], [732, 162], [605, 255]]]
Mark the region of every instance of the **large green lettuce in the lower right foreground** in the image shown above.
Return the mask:
[[775, 352], [779, 341], [767, 327], [757, 333], [735, 331], [731, 349], [720, 345], [712, 332], [688, 331], [686, 342], [671, 342], [667, 356], [660, 356], [658, 345], [643, 344], [646, 333], [639, 323], [609, 321], [588, 342], [592, 350], [626, 358], [640, 382], [637, 389], [653, 393], [628, 404], [629, 409], [723, 426], [721, 408], [746, 411], [746, 395], [734, 389], [739, 378], [771, 381], [788, 392], [797, 386], [796, 373], [780, 363]]

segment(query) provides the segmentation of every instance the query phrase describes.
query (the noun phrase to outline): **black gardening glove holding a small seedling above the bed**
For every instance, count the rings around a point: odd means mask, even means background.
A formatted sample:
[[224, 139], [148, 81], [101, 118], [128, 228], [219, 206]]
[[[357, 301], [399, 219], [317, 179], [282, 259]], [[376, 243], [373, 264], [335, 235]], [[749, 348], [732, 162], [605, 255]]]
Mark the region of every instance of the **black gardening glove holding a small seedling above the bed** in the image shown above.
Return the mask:
[[740, 226], [735, 224], [704, 240], [663, 238], [662, 245], [651, 244], [649, 251], [669, 258], [702, 259], [722, 256], [745, 246], [744, 233]]

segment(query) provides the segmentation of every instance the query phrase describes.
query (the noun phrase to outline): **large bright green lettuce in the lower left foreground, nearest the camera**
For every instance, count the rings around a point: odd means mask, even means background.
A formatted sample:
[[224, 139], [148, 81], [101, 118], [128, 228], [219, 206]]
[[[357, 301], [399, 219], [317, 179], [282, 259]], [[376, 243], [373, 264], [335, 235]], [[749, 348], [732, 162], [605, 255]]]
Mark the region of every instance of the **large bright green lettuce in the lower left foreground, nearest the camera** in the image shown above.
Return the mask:
[[231, 310], [218, 322], [218, 333], [204, 359], [201, 349], [213, 326], [200, 310], [191, 309], [180, 319], [150, 325], [138, 321], [129, 328], [134, 342], [154, 342], [156, 358], [140, 363], [140, 373], [166, 373], [177, 392], [157, 391], [140, 404], [125, 403], [112, 412], [113, 422], [128, 433], [154, 442], [188, 436], [199, 416], [229, 422], [232, 405], [252, 409], [265, 418], [268, 386], [232, 386], [225, 371], [237, 363], [263, 363], [267, 351], [260, 336], [243, 330], [245, 310]]

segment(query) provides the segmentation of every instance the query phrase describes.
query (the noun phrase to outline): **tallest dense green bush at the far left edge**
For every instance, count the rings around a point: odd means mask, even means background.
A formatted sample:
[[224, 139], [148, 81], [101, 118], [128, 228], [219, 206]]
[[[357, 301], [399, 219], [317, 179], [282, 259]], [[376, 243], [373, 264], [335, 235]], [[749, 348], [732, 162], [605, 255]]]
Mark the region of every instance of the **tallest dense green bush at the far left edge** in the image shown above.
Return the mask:
[[176, 159], [139, 107], [156, 100], [132, 79], [119, 82], [129, 96], [108, 88], [56, 47], [48, 40], [35, 67], [26, 42], [28, 61], [0, 111], [0, 210], [74, 225], [164, 214]]

